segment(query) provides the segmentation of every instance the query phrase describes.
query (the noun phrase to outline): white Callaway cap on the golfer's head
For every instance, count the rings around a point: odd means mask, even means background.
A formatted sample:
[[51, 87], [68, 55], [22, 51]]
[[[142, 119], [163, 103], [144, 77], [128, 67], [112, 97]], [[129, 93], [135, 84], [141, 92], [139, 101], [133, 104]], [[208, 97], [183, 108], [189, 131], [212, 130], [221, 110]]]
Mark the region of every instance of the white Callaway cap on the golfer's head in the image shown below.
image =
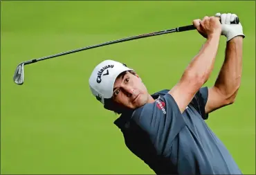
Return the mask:
[[120, 73], [133, 70], [120, 62], [105, 60], [98, 64], [89, 78], [90, 89], [93, 95], [104, 104], [104, 99], [113, 95], [113, 84]]

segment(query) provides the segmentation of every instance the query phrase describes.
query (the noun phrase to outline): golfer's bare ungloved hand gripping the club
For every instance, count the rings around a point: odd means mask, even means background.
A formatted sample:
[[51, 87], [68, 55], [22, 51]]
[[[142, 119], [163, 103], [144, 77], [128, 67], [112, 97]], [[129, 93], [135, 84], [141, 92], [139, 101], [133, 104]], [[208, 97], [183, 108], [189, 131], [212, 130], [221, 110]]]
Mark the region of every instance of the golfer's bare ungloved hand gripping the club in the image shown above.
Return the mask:
[[205, 38], [209, 39], [213, 35], [221, 35], [221, 24], [217, 17], [203, 17], [203, 20], [195, 19], [193, 25], [196, 30]]

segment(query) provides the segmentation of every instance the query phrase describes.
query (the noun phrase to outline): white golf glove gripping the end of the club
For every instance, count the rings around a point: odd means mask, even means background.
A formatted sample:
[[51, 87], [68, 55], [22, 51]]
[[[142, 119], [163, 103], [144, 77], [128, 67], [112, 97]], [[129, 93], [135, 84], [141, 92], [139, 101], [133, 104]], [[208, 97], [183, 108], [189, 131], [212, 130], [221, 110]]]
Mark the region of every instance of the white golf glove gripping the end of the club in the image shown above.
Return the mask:
[[243, 33], [243, 27], [241, 23], [239, 24], [230, 24], [230, 22], [234, 21], [237, 15], [231, 13], [217, 13], [215, 17], [220, 17], [221, 21], [221, 35], [227, 37], [227, 42], [237, 36], [246, 37]]

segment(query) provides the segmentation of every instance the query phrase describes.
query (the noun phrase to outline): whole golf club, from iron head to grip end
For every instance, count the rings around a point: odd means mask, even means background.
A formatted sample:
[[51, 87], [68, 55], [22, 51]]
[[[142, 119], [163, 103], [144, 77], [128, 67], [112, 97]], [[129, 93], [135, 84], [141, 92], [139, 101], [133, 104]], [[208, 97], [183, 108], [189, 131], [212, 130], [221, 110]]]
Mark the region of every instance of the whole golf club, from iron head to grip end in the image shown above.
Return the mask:
[[[232, 24], [239, 24], [239, 18], [237, 17], [232, 22]], [[43, 61], [45, 59], [50, 59], [50, 58], [53, 58], [53, 57], [59, 57], [59, 56], [62, 56], [62, 55], [77, 53], [77, 52], [80, 52], [82, 50], [88, 50], [88, 49], [91, 49], [91, 48], [98, 48], [98, 47], [107, 46], [107, 45], [110, 45], [110, 44], [116, 44], [116, 43], [120, 43], [120, 42], [127, 42], [127, 41], [131, 41], [131, 40], [134, 40], [134, 39], [141, 39], [141, 38], [145, 38], [145, 37], [152, 37], [152, 36], [163, 35], [163, 34], [167, 34], [167, 33], [179, 33], [179, 32], [183, 32], [183, 31], [195, 30], [195, 29], [196, 28], [194, 27], [194, 25], [181, 26], [181, 27], [167, 29], [167, 30], [160, 30], [160, 31], [154, 32], [154, 33], [146, 33], [146, 34], [143, 34], [143, 35], [136, 35], [136, 36], [133, 36], [133, 37], [126, 37], [126, 38], [123, 38], [123, 39], [117, 39], [117, 40], [114, 40], [114, 41], [111, 41], [111, 42], [104, 42], [102, 44], [86, 46], [84, 48], [77, 48], [75, 50], [69, 50], [69, 51], [66, 51], [66, 52], [63, 52], [63, 53], [57, 53], [55, 55], [41, 57], [41, 58], [38, 58], [38, 59], [30, 59], [26, 62], [21, 62], [17, 66], [17, 68], [15, 70], [15, 75], [13, 77], [13, 80], [18, 85], [24, 84], [24, 66], [27, 65], [27, 64], [33, 64], [35, 62]]]

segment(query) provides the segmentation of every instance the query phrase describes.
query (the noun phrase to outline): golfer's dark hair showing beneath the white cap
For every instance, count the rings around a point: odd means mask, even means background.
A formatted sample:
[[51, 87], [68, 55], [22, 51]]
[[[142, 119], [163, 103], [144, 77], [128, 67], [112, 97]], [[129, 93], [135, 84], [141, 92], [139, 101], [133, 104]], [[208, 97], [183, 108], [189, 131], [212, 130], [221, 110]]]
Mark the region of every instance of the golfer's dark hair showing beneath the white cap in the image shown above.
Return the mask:
[[[122, 75], [125, 75], [127, 72], [131, 73], [132, 75], [136, 75], [135, 71], [125, 71], [120, 73], [120, 75], [118, 75], [119, 78]], [[126, 107], [123, 107], [122, 105], [118, 104], [117, 102], [113, 101], [113, 98], [109, 98], [109, 99], [105, 99], [104, 100], [104, 109], [107, 109], [109, 111], [114, 111], [115, 113], [121, 114], [121, 113], [125, 113], [126, 111], [129, 111], [130, 109], [127, 109]]]

